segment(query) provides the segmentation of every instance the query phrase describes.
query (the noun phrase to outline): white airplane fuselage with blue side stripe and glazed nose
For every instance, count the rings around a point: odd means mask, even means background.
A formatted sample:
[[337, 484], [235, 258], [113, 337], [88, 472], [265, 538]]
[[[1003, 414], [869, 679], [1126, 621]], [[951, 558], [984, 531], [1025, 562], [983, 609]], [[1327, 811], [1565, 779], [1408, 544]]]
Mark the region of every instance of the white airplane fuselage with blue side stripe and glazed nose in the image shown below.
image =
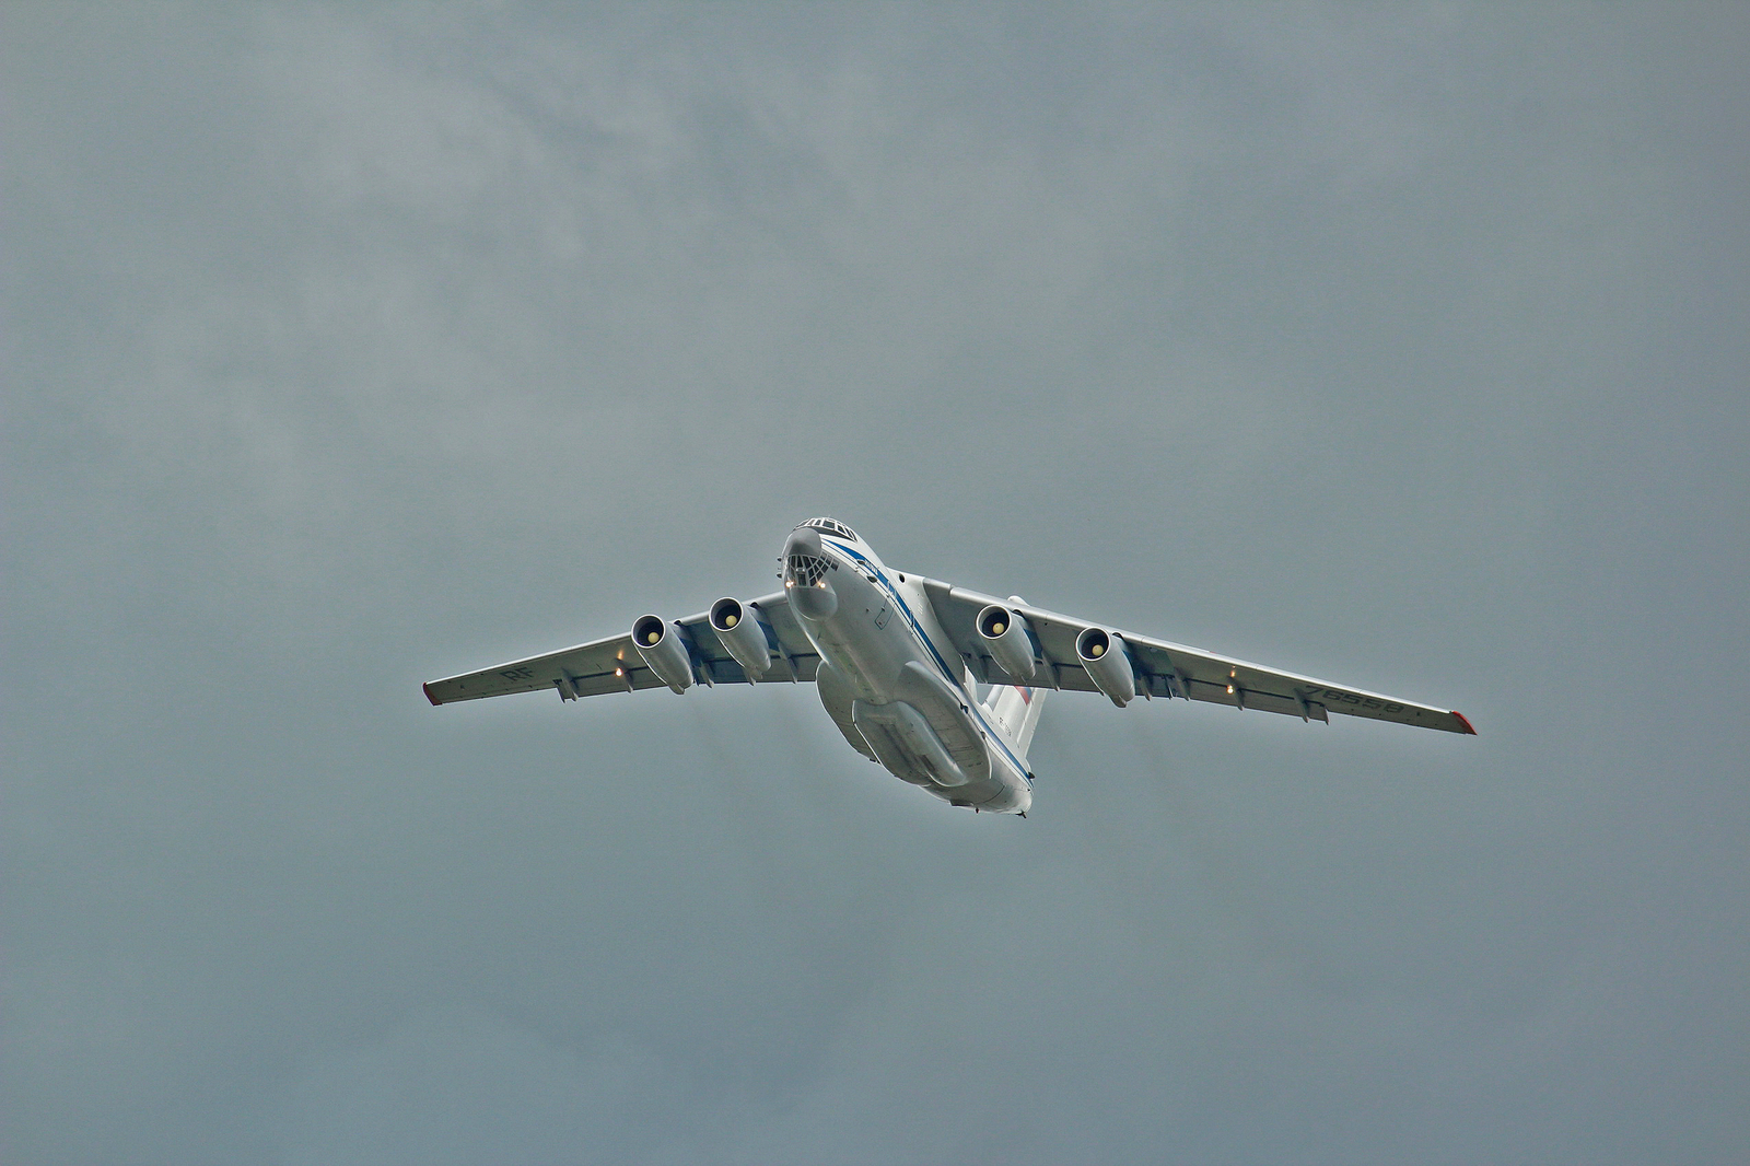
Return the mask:
[[980, 704], [922, 583], [861, 539], [808, 527], [784, 551], [789, 606], [821, 653], [821, 704], [845, 739], [945, 802], [1026, 812], [1024, 753]]

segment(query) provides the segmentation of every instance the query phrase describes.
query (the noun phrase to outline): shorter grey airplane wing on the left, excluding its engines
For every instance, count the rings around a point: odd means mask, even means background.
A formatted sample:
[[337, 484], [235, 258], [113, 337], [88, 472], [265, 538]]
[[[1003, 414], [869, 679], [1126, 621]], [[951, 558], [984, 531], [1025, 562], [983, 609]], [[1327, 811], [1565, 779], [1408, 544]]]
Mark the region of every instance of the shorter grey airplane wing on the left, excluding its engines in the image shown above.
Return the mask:
[[[760, 623], [772, 648], [772, 667], [761, 683], [812, 681], [821, 658], [802, 632], [789, 599], [779, 592], [747, 604], [758, 611]], [[676, 620], [686, 636], [688, 655], [693, 658], [693, 679], [702, 685], [747, 685], [747, 671], [723, 650], [718, 634], [705, 622], [705, 613]], [[667, 688], [644, 664], [632, 646], [630, 629], [620, 636], [595, 639], [576, 648], [562, 648], [527, 660], [511, 660], [478, 672], [450, 676], [425, 685], [425, 699], [432, 704], [480, 700], [513, 692], [556, 692], [560, 700], [598, 697], [609, 692], [637, 692], [640, 688]]]

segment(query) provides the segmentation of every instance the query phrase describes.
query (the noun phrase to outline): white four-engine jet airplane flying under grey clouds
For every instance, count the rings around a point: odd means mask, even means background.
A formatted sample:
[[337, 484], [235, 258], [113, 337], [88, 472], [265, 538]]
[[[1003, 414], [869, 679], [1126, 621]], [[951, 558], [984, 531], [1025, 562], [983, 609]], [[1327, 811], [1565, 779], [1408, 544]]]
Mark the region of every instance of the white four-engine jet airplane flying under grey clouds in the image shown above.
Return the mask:
[[[779, 558], [784, 590], [684, 620], [427, 683], [432, 704], [513, 692], [578, 700], [696, 685], [814, 681], [852, 749], [957, 807], [1027, 816], [1027, 749], [1052, 692], [1204, 700], [1330, 723], [1330, 714], [1475, 728], [1460, 713], [1218, 657], [892, 571], [842, 522], [810, 518]], [[980, 697], [978, 688], [989, 692]]]

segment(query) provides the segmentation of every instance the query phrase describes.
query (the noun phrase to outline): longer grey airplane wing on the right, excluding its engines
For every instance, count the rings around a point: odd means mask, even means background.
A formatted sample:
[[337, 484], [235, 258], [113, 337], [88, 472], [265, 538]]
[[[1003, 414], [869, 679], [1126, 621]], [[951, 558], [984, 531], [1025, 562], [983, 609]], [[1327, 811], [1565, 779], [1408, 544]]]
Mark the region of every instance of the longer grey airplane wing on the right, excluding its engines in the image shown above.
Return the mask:
[[[1311, 676], [1267, 669], [1230, 657], [1218, 657], [1200, 648], [1186, 648], [1164, 639], [1136, 636], [1122, 629], [1076, 620], [1055, 611], [982, 595], [978, 592], [922, 579], [942, 629], [954, 639], [961, 658], [973, 676], [987, 685], [1032, 685], [1040, 688], [1068, 688], [1071, 692], [1099, 692], [1076, 657], [1076, 636], [1088, 627], [1118, 632], [1130, 653], [1138, 693], [1150, 697], [1183, 697], [1239, 709], [1286, 713], [1302, 720], [1328, 721], [1328, 713], [1365, 716], [1376, 721], [1419, 725], [1449, 734], [1475, 734], [1460, 713], [1449, 713], [1412, 700], [1382, 697], [1348, 685], [1334, 685]], [[1003, 604], [1027, 618], [1036, 639], [1036, 655], [1043, 660], [1032, 679], [1015, 679], [1003, 671], [989, 653], [975, 629], [978, 613], [987, 604]]]

